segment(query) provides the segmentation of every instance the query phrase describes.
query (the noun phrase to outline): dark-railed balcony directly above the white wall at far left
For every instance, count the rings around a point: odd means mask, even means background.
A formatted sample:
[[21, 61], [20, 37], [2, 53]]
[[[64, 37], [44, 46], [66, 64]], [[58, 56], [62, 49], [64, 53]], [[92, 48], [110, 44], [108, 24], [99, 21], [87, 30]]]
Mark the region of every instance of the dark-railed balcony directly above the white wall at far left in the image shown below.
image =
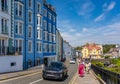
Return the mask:
[[0, 47], [0, 56], [22, 55], [21, 47]]

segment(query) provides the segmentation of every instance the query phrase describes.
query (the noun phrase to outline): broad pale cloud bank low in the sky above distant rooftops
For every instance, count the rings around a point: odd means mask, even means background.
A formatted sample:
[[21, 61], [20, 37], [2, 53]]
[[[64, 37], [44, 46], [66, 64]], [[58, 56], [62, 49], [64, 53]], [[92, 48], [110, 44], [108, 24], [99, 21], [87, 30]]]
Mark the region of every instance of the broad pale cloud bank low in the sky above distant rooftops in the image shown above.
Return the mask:
[[75, 31], [75, 33], [64, 31], [61, 32], [61, 35], [74, 47], [83, 45], [87, 42], [95, 42], [98, 44], [120, 43], [120, 21], [97, 28], [83, 28], [83, 30], [79, 32]]

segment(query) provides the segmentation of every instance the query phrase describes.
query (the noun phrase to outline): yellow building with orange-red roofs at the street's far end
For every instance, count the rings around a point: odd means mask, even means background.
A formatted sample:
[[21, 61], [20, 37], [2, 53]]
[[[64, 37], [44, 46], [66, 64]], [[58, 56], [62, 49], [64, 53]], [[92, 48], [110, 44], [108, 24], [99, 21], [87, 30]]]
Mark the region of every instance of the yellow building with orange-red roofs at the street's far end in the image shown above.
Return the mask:
[[103, 48], [102, 45], [98, 45], [95, 43], [87, 43], [85, 46], [83, 46], [82, 49], [82, 57], [83, 58], [89, 58], [90, 56], [92, 58], [100, 58], [100, 56], [103, 54]]

